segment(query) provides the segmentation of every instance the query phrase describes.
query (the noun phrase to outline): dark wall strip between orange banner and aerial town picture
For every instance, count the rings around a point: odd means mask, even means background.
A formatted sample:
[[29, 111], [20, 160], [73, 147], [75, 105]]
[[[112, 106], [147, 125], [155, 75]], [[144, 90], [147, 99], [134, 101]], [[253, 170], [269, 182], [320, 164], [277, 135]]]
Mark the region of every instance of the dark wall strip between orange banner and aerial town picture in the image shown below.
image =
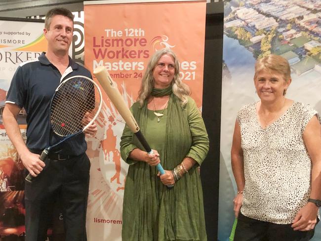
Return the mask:
[[202, 116], [209, 137], [209, 153], [201, 165], [208, 241], [217, 240], [223, 53], [223, 1], [206, 5]]

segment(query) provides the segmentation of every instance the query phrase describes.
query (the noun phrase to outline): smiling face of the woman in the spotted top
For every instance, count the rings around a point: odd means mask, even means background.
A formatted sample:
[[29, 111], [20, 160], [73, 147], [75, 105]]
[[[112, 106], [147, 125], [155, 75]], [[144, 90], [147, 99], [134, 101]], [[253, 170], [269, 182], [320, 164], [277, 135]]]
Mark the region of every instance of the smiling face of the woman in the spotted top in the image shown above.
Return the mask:
[[269, 69], [262, 69], [256, 73], [254, 78], [257, 95], [261, 101], [266, 102], [274, 102], [283, 98], [284, 90], [290, 83], [291, 79], [286, 81], [284, 75]]

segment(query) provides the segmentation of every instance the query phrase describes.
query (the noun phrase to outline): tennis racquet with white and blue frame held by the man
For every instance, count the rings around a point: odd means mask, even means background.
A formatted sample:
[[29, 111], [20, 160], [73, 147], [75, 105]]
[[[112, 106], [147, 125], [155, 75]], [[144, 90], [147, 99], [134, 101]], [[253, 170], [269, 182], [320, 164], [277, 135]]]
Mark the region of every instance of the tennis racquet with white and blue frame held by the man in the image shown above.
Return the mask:
[[[52, 148], [82, 133], [97, 118], [102, 97], [99, 86], [85, 76], [73, 76], [59, 84], [50, 103], [50, 124], [53, 132], [64, 137], [45, 148], [39, 159], [45, 161]], [[32, 182], [30, 173], [25, 178]]]

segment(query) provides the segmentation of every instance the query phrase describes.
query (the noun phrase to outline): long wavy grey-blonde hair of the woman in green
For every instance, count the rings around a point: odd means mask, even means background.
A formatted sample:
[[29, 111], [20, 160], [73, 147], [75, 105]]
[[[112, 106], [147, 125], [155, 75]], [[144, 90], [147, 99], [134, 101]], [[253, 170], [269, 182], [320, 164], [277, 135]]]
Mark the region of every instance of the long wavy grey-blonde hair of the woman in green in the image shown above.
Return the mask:
[[176, 54], [169, 48], [163, 48], [156, 51], [149, 60], [146, 72], [142, 79], [141, 87], [138, 92], [137, 101], [141, 106], [143, 105], [143, 102], [149, 98], [155, 86], [153, 72], [161, 56], [163, 56], [164, 54], [170, 55], [174, 60], [175, 73], [171, 83], [173, 93], [181, 100], [182, 104], [187, 103], [187, 96], [190, 95], [191, 92], [189, 86], [183, 83], [179, 76], [179, 62], [177, 60]]

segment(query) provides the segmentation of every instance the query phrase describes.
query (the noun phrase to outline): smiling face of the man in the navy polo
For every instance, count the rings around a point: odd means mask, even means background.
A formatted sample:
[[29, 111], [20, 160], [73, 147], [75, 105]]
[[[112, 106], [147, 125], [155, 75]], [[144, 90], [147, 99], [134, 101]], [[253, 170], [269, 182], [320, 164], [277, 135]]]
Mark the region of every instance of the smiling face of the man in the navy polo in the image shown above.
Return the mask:
[[44, 29], [43, 34], [48, 41], [48, 51], [56, 54], [68, 54], [68, 49], [73, 40], [73, 21], [63, 15], [51, 18], [49, 29]]

